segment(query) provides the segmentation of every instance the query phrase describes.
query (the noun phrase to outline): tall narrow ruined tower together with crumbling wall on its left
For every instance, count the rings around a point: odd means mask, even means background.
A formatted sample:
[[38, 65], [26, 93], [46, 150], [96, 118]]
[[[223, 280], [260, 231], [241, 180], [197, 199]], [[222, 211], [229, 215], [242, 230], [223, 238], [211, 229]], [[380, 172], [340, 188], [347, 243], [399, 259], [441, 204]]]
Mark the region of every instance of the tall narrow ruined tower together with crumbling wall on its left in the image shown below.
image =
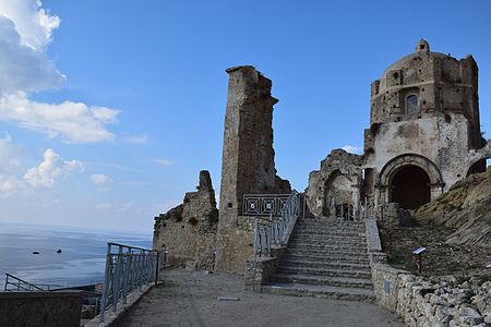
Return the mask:
[[243, 195], [288, 194], [291, 187], [276, 175], [272, 82], [250, 65], [227, 73], [219, 219], [209, 174], [202, 171], [199, 191], [155, 218], [154, 249], [167, 251], [171, 265], [243, 274], [253, 243], [252, 220], [241, 216]]

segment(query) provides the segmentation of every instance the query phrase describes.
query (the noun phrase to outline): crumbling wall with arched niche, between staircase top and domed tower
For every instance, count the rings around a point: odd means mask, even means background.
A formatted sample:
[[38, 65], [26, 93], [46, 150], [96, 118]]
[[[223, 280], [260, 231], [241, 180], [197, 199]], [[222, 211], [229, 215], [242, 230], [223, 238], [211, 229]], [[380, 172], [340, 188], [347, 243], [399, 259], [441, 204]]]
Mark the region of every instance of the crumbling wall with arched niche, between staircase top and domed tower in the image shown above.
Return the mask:
[[335, 149], [321, 161], [321, 169], [309, 175], [307, 205], [318, 217], [334, 215], [332, 202], [358, 206], [361, 186], [362, 157]]

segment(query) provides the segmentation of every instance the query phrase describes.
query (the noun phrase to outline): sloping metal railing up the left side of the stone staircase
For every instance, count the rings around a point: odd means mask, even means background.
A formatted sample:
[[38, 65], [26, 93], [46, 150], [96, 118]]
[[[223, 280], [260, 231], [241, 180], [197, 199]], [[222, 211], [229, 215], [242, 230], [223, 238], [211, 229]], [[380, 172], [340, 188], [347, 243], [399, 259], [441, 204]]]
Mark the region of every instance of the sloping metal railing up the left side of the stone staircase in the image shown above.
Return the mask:
[[[286, 198], [278, 210], [279, 217], [274, 217], [273, 213], [268, 218], [254, 218], [254, 262], [258, 257], [271, 256], [272, 244], [285, 244], [288, 235], [300, 214], [300, 194], [292, 191], [290, 195], [279, 195]], [[256, 196], [259, 197], [259, 196]], [[268, 198], [272, 196], [268, 195]]]

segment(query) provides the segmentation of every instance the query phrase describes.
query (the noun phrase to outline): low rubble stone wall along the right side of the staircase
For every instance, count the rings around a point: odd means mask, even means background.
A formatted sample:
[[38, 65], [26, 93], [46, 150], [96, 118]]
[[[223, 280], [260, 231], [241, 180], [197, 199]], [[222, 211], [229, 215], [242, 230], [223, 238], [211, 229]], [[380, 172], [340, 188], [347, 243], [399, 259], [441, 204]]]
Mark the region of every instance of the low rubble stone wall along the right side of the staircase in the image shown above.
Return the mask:
[[426, 278], [386, 264], [376, 221], [368, 219], [367, 242], [372, 281], [380, 305], [409, 326], [490, 326], [491, 281], [455, 277]]

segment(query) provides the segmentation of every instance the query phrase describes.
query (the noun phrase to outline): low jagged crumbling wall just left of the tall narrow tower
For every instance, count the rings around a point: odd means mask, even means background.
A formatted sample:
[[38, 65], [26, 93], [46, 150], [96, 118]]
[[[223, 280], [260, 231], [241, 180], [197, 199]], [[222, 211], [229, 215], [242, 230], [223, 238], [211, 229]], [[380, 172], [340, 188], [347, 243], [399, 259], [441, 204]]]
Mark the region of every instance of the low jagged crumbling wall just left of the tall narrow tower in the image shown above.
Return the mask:
[[196, 192], [185, 193], [183, 203], [155, 218], [154, 245], [167, 252], [167, 263], [196, 269], [213, 269], [218, 209], [209, 172], [200, 172]]

